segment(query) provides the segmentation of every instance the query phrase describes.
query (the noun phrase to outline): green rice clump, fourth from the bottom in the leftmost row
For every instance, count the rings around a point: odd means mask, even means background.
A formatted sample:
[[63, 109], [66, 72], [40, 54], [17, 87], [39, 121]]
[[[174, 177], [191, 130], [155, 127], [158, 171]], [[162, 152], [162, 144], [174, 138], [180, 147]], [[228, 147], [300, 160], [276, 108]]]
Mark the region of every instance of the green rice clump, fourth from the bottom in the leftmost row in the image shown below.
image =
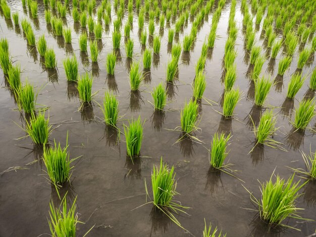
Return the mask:
[[23, 108], [24, 112], [31, 113], [35, 109], [37, 95], [34, 94], [33, 86], [27, 81], [24, 86], [21, 86], [17, 91], [19, 98], [19, 106]]

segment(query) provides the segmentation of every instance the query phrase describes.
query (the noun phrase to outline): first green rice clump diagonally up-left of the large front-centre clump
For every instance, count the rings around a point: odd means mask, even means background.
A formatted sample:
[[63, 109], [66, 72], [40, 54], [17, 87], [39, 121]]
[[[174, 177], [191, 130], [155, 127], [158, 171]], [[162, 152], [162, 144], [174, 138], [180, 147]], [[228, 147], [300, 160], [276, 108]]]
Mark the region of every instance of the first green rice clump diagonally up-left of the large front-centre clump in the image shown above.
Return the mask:
[[138, 156], [143, 139], [143, 124], [140, 116], [137, 120], [129, 122], [129, 126], [124, 125], [124, 133], [126, 139], [127, 155], [130, 157]]

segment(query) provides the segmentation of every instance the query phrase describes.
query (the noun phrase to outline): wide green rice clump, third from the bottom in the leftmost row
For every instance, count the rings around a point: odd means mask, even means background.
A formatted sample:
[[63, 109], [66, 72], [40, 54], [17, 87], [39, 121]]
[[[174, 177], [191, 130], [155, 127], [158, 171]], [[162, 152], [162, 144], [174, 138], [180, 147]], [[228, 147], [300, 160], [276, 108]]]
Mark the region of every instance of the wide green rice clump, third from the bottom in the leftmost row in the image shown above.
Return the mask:
[[39, 112], [35, 115], [32, 112], [30, 122], [26, 121], [25, 131], [35, 144], [47, 144], [48, 136], [51, 133], [49, 117], [45, 120], [44, 113]]

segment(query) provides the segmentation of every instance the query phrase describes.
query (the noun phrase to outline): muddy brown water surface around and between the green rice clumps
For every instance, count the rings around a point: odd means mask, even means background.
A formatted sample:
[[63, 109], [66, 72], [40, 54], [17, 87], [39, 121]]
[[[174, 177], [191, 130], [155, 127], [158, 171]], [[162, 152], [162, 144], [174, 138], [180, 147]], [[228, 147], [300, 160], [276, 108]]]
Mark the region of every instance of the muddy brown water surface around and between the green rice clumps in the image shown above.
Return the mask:
[[[23, 10], [20, 1], [9, 1], [12, 12], [18, 11], [20, 19], [29, 17], [29, 13]], [[315, 231], [315, 222], [302, 220], [289, 220], [288, 224], [300, 228], [301, 232], [291, 229], [270, 230], [268, 226], [258, 220], [256, 212], [247, 210], [255, 208], [249, 198], [249, 194], [243, 188], [253, 191], [259, 197], [258, 181], [266, 181], [275, 170], [282, 177], [291, 175], [291, 170], [286, 166], [303, 168], [301, 151], [309, 152], [316, 149], [315, 135], [310, 130], [293, 133], [289, 120], [293, 120], [291, 109], [297, 106], [298, 101], [304, 96], [313, 97], [314, 92], [308, 90], [308, 80], [296, 95], [294, 101], [285, 99], [287, 84], [290, 75], [295, 72], [298, 54], [294, 55], [291, 68], [283, 78], [278, 78], [277, 69], [281, 53], [275, 62], [269, 58], [262, 69], [262, 75], [270, 75], [272, 79], [280, 83], [274, 86], [269, 94], [267, 105], [275, 107], [277, 114], [277, 127], [279, 131], [274, 139], [283, 144], [283, 148], [273, 149], [268, 146], [259, 146], [252, 153], [249, 151], [254, 145], [254, 135], [248, 114], [258, 119], [260, 109], [254, 106], [254, 85], [247, 78], [249, 70], [248, 52], [244, 50], [242, 34], [242, 15], [240, 2], [236, 7], [236, 19], [239, 26], [239, 34], [236, 41], [238, 56], [236, 59], [239, 86], [243, 93], [235, 113], [236, 118], [225, 120], [217, 111], [222, 111], [221, 98], [224, 85], [221, 83], [223, 74], [222, 60], [224, 45], [227, 38], [227, 24], [230, 11], [230, 2], [223, 9], [218, 27], [218, 37], [213, 51], [209, 51], [205, 66], [207, 87], [204, 96], [212, 100], [210, 105], [206, 100], [201, 103], [200, 128], [195, 136], [202, 144], [192, 140], [177, 142], [181, 137], [180, 132], [171, 131], [180, 126], [180, 109], [185, 100], [192, 95], [191, 83], [194, 79], [194, 66], [197, 61], [205, 36], [208, 35], [212, 11], [206, 17], [193, 50], [189, 55], [183, 55], [180, 59], [179, 80], [174, 85], [167, 85], [169, 103], [166, 112], [153, 113], [150, 91], [160, 82], [165, 82], [167, 62], [171, 58], [167, 43], [168, 26], [161, 33], [162, 48], [160, 57], [154, 58], [154, 67], [147, 73], [146, 80], [139, 93], [131, 93], [129, 87], [128, 65], [125, 50], [121, 46], [121, 60], [119, 61], [115, 77], [107, 77], [105, 58], [112, 51], [112, 33], [103, 32], [99, 42], [100, 53], [98, 63], [91, 64], [87, 55], [81, 54], [78, 45], [78, 37], [82, 29], [74, 24], [72, 17], [67, 14], [67, 25], [74, 29], [72, 44], [65, 44], [62, 38], [53, 36], [44, 20], [44, 8], [39, 2], [38, 21], [31, 20], [36, 32], [36, 38], [45, 34], [49, 47], [54, 47], [58, 58], [58, 69], [47, 71], [41, 66], [41, 58], [32, 47], [28, 47], [21, 34], [21, 29], [15, 27], [12, 22], [0, 18], [1, 35], [9, 39], [9, 46], [14, 62], [21, 64], [22, 80], [28, 78], [38, 90], [37, 103], [40, 106], [49, 106], [50, 123], [56, 128], [50, 135], [50, 142], [54, 139], [62, 144], [66, 143], [66, 133], [69, 131], [70, 154], [72, 157], [81, 156], [75, 162], [72, 175], [72, 186], [65, 187], [62, 193], [68, 192], [68, 200], [71, 202], [78, 196], [78, 212], [80, 220], [86, 224], [78, 224], [78, 234], [82, 235], [91, 226], [95, 225], [89, 236], [188, 236], [189, 232], [182, 230], [161, 213], [152, 210], [150, 204], [141, 206], [146, 202], [144, 182], [150, 189], [150, 173], [153, 164], [159, 164], [160, 157], [164, 161], [176, 167], [178, 179], [177, 191], [181, 194], [176, 200], [182, 205], [190, 207], [189, 215], [177, 216], [182, 225], [195, 236], [202, 234], [204, 218], [213, 225], [218, 225], [228, 236], [307, 236]], [[126, 3], [127, 4], [127, 3]], [[99, 2], [97, 3], [97, 6]], [[72, 8], [72, 7], [71, 7]], [[115, 10], [112, 9], [112, 14]], [[138, 39], [137, 14], [134, 13], [133, 29], [131, 37], [134, 39], [134, 61], [141, 61], [142, 47]], [[116, 17], [112, 17], [112, 20]], [[124, 15], [124, 22], [127, 13]], [[174, 27], [174, 23], [170, 24]], [[190, 32], [191, 20], [179, 34], [179, 42], [182, 42], [184, 34]], [[123, 24], [124, 25], [124, 24]], [[155, 32], [159, 33], [159, 22], [156, 22]], [[145, 23], [147, 27], [147, 22]], [[260, 38], [261, 27], [257, 31], [257, 45], [265, 45]], [[281, 37], [281, 36], [280, 36]], [[147, 43], [147, 47], [150, 47]], [[89, 51], [89, 50], [88, 50]], [[94, 75], [92, 91], [98, 91], [94, 97], [94, 105], [87, 106], [82, 112], [78, 111], [80, 101], [74, 84], [67, 83], [62, 61], [71, 53], [80, 61], [80, 73], [85, 71]], [[89, 54], [89, 52], [88, 52]], [[314, 68], [315, 62], [311, 62], [303, 69], [303, 74], [308, 74]], [[0, 71], [1, 78], [4, 78]], [[0, 142], [2, 144], [0, 171], [13, 166], [27, 165], [27, 169], [18, 169], [5, 172], [0, 177], [0, 236], [38, 236], [49, 233], [46, 217], [48, 216], [49, 202], [52, 199], [58, 203], [56, 191], [51, 188], [45, 175], [45, 167], [38, 160], [40, 150], [33, 146], [29, 138], [16, 140], [25, 136], [19, 126], [24, 121], [19, 111], [16, 110], [14, 98], [6, 88], [6, 80], [3, 79], [0, 89]], [[126, 143], [124, 135], [119, 137], [115, 131], [106, 128], [101, 123], [101, 110], [97, 102], [102, 102], [104, 91], [112, 90], [118, 95], [120, 101], [119, 128], [127, 119], [141, 115], [144, 124], [144, 139], [141, 148], [142, 157], [131, 162], [126, 158]], [[282, 107], [282, 108], [281, 108]], [[48, 115], [48, 112], [47, 112]], [[313, 118], [311, 126], [315, 127]], [[234, 164], [237, 170], [235, 177], [214, 172], [209, 169], [208, 151], [212, 135], [217, 131], [232, 133], [229, 163]], [[116, 142], [120, 138], [120, 142]], [[297, 206], [304, 208], [301, 216], [316, 219], [316, 184], [309, 183], [299, 200]], [[139, 208], [137, 208], [139, 207]], [[136, 209], [135, 209], [136, 208]]]

